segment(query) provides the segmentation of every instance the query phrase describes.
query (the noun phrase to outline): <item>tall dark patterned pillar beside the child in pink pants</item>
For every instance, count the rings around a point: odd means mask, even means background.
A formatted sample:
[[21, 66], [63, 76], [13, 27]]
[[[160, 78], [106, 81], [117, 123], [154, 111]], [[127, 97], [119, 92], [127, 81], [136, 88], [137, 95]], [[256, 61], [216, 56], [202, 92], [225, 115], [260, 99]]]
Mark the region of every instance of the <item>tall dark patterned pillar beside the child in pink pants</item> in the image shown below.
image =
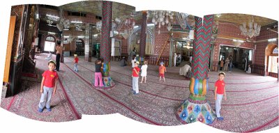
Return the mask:
[[110, 78], [110, 53], [112, 52], [112, 40], [110, 31], [112, 31], [112, 1], [103, 1], [103, 18], [102, 31], [100, 41], [100, 58], [103, 58], [103, 82], [101, 89], [109, 89], [114, 87], [114, 82]]

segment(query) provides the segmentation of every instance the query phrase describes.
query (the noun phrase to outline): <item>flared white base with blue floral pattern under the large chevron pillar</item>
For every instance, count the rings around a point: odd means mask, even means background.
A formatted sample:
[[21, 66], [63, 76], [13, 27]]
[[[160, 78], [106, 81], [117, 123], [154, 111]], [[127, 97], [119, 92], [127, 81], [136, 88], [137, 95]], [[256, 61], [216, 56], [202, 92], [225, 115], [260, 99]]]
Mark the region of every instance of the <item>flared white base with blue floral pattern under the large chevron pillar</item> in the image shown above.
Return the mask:
[[184, 124], [199, 121], [211, 125], [216, 120], [216, 113], [206, 100], [196, 101], [189, 98], [176, 111], [176, 117]]

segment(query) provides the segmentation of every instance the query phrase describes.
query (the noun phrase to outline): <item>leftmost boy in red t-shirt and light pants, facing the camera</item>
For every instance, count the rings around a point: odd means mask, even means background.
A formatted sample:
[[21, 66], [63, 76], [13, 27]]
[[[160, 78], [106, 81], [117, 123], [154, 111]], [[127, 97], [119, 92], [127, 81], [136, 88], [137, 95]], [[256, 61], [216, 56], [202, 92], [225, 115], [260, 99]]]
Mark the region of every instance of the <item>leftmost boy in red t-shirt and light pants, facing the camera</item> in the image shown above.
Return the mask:
[[52, 95], [56, 93], [56, 82], [58, 79], [57, 72], [54, 71], [56, 67], [56, 62], [50, 60], [48, 62], [49, 70], [43, 72], [42, 83], [40, 84], [40, 102], [38, 104], [38, 111], [43, 112], [43, 109], [46, 107], [47, 111], [52, 111], [50, 108], [50, 100]]

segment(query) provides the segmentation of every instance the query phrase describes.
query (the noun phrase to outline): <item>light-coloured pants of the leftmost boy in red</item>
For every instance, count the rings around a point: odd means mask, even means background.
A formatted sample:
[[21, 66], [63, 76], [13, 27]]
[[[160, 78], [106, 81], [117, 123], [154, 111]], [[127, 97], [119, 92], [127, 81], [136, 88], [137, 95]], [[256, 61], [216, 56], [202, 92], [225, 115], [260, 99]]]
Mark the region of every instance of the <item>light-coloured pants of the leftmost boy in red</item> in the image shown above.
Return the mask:
[[43, 86], [43, 93], [40, 95], [39, 108], [43, 109], [44, 107], [50, 108], [50, 99], [52, 98], [53, 88]]

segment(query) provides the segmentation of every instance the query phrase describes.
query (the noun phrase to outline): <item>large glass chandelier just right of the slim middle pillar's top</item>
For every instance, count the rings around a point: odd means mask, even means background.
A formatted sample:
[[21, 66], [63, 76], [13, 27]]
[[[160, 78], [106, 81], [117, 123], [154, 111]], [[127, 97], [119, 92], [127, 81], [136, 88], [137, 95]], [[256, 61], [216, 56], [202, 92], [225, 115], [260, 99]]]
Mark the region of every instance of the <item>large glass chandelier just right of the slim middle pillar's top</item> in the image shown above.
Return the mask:
[[165, 26], [165, 24], [167, 25], [167, 30], [170, 31], [172, 29], [172, 25], [170, 24], [170, 20], [174, 19], [174, 13], [170, 12], [170, 11], [163, 11], [163, 10], [158, 10], [158, 11], [148, 11], [147, 12], [147, 17], [149, 17], [150, 15], [153, 15], [152, 18], [152, 22], [155, 25], [158, 25], [159, 31], [158, 33], [160, 33], [160, 27]]

